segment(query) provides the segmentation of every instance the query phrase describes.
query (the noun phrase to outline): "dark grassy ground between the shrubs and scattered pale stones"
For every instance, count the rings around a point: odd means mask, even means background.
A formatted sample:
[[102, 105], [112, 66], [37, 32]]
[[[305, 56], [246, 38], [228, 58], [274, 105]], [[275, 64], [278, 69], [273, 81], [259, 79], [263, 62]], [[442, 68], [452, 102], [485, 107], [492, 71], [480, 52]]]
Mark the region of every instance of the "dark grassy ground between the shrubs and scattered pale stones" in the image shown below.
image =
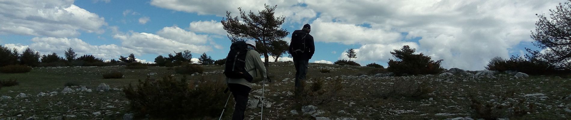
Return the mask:
[[[204, 66], [205, 72], [201, 76], [218, 80], [223, 78], [223, 67], [218, 65]], [[329, 73], [320, 73], [320, 69], [331, 69]], [[357, 119], [445, 119], [455, 117], [476, 118], [471, 109], [473, 96], [484, 103], [498, 104], [525, 100], [525, 105], [532, 104], [533, 110], [523, 116], [513, 116], [510, 119], [571, 119], [571, 112], [565, 111], [565, 107], [571, 108], [571, 100], [565, 100], [571, 95], [571, 80], [569, 77], [557, 79], [554, 76], [532, 76], [525, 79], [513, 79], [507, 75], [497, 75], [497, 78], [473, 78], [472, 76], [438, 77], [438, 75], [406, 76], [406, 77], [364, 77], [357, 75], [367, 73], [371, 67], [349, 67], [329, 64], [310, 64], [307, 85], [315, 82], [316, 78], [324, 80], [324, 86], [333, 84], [336, 78], [342, 81], [343, 89], [331, 98], [327, 104], [312, 104], [317, 106], [317, 111], [323, 111], [317, 117], [357, 118]], [[103, 79], [102, 74], [111, 71], [123, 72], [124, 78]], [[215, 72], [215, 73], [212, 73]], [[136, 83], [146, 78], [148, 73], [156, 73], [151, 76], [158, 78], [164, 75], [177, 75], [174, 70], [164, 67], [149, 67], [148, 69], [124, 69], [124, 67], [67, 67], [67, 68], [34, 68], [30, 73], [0, 74], [0, 79], [17, 78], [18, 86], [4, 87], [0, 90], [0, 96], [15, 97], [18, 93], [36, 95], [39, 92], [61, 92], [66, 82], [85, 85], [94, 89], [100, 83], [106, 83], [111, 88], [122, 88], [129, 83]], [[274, 82], [266, 83], [264, 97], [266, 101], [274, 103], [272, 107], [264, 108], [266, 119], [315, 119], [311, 115], [298, 113], [292, 114], [291, 110], [297, 110], [297, 101], [294, 99], [293, 81], [285, 81], [284, 78], [293, 78], [295, 70], [291, 62], [278, 62], [271, 64], [270, 76]], [[349, 76], [341, 78], [341, 76]], [[196, 77], [196, 76], [193, 76]], [[331, 77], [331, 78], [328, 78]], [[191, 77], [192, 78], [192, 77]], [[409, 81], [409, 82], [403, 82]], [[261, 83], [255, 81], [257, 86], [252, 88], [250, 98], [262, 96]], [[391, 95], [379, 97], [378, 94], [369, 93], [374, 89], [383, 93], [393, 89], [393, 84], [421, 83], [425, 85], [428, 94], [419, 97], [407, 97]], [[409, 88], [398, 88], [405, 90]], [[323, 88], [324, 92], [330, 90]], [[514, 93], [513, 95], [506, 95]], [[525, 96], [526, 94], [542, 93], [541, 96]], [[506, 96], [507, 100], [501, 100]], [[432, 100], [429, 100], [432, 98]], [[490, 101], [492, 100], [492, 101]], [[229, 105], [231, 106], [231, 105]], [[23, 111], [22, 111], [23, 110]], [[339, 111], [348, 114], [340, 114]], [[507, 111], [507, 110], [503, 110]], [[93, 113], [99, 112], [100, 115]], [[51, 117], [64, 117], [66, 119], [121, 119], [123, 114], [133, 113], [129, 109], [128, 101], [120, 90], [111, 92], [75, 92], [69, 94], [59, 93], [53, 97], [29, 97], [13, 100], [0, 100], [0, 119], [25, 119], [37, 117], [49, 119]], [[232, 110], [227, 110], [226, 118]], [[440, 115], [443, 113], [449, 113]], [[502, 113], [502, 110], [496, 113]], [[259, 119], [260, 109], [247, 109], [247, 119]], [[21, 117], [17, 117], [21, 115]], [[76, 115], [77, 117], [67, 117]], [[499, 115], [510, 115], [509, 113]], [[152, 119], [152, 118], [151, 118]]]

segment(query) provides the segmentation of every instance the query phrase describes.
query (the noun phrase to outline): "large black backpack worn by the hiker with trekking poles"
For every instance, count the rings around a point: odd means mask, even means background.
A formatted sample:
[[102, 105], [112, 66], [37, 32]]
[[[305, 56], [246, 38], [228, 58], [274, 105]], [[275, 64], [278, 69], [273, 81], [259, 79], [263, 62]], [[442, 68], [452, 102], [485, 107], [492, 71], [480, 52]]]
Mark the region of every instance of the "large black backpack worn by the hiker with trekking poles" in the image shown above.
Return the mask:
[[254, 77], [246, 70], [246, 53], [248, 52], [246, 42], [235, 42], [230, 45], [230, 52], [226, 56], [226, 67], [224, 75], [228, 78], [244, 78], [252, 82]]

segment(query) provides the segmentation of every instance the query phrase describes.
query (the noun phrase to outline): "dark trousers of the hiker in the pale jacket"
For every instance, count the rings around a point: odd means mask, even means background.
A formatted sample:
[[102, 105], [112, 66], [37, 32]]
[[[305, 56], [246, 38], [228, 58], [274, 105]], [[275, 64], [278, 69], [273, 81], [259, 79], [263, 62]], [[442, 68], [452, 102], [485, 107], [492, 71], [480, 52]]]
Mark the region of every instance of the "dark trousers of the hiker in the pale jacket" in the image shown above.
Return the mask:
[[232, 120], [243, 120], [244, 111], [246, 111], [246, 105], [248, 104], [248, 95], [252, 88], [240, 84], [228, 84], [228, 88], [232, 92], [232, 96], [234, 96], [234, 101], [236, 101]]

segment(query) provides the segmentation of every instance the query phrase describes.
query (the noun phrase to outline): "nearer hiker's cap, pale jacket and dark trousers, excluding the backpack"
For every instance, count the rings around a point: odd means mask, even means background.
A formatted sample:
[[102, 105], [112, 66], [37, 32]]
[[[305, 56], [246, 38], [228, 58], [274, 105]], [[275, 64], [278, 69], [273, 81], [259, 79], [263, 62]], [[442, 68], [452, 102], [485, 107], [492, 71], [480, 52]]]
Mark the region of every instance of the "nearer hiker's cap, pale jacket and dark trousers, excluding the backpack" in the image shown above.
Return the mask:
[[[256, 43], [253, 40], [247, 40], [248, 52], [246, 53], [246, 70], [252, 77], [258, 76], [256, 71], [261, 72], [262, 80], [266, 80], [266, 67], [262, 59], [260, 59], [260, 53], [256, 52]], [[244, 111], [246, 111], [246, 105], [248, 104], [248, 96], [250, 96], [250, 90], [252, 90], [252, 83], [248, 82], [244, 78], [226, 78], [228, 82], [228, 89], [232, 92], [234, 96], [234, 101], [236, 105], [234, 107], [234, 114], [232, 114], [232, 119], [244, 119]]]

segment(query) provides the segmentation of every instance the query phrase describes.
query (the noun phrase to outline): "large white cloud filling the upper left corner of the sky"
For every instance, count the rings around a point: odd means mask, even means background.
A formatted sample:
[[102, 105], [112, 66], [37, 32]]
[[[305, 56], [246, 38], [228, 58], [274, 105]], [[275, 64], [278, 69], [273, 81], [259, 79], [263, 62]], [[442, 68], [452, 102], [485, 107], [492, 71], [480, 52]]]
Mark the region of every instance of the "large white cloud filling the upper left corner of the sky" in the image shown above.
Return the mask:
[[103, 17], [73, 5], [73, 0], [0, 2], [0, 34], [73, 37], [80, 31], [102, 34]]

